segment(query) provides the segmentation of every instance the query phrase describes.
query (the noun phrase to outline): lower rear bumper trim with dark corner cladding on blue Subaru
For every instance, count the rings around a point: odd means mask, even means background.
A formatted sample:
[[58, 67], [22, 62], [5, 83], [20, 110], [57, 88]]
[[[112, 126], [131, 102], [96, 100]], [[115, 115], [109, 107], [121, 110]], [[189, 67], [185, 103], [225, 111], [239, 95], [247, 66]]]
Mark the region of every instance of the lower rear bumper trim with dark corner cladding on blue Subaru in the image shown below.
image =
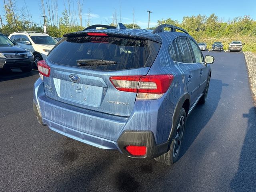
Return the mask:
[[[58, 132], [64, 136], [78, 140], [80, 142], [89, 144], [91, 146], [95, 146], [97, 148], [107, 150], [119, 150], [122, 154], [130, 158], [144, 159], [156, 158], [169, 150], [169, 142], [157, 145], [154, 138], [154, 134], [151, 131], [125, 131], [118, 138], [117, 142], [115, 142], [112, 140], [94, 136], [92, 134], [87, 134], [78, 130], [74, 130], [72, 128], [68, 128], [56, 122], [42, 118], [42, 115], [40, 114], [40, 110], [38, 109], [35, 100], [33, 100], [33, 107], [37, 120], [40, 124], [48, 125], [49, 128], [55, 132]], [[146, 146], [146, 154], [144, 156], [132, 156], [125, 149], [128, 145]]]

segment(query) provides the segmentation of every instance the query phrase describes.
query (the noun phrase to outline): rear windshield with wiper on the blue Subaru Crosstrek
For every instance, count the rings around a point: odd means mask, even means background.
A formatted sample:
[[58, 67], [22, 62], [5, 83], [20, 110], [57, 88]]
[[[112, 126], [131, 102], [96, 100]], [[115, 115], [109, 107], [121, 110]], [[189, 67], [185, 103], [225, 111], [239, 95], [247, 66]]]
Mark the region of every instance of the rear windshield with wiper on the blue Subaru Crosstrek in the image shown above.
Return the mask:
[[64, 38], [48, 54], [55, 64], [95, 70], [124, 70], [151, 66], [160, 44], [111, 36]]

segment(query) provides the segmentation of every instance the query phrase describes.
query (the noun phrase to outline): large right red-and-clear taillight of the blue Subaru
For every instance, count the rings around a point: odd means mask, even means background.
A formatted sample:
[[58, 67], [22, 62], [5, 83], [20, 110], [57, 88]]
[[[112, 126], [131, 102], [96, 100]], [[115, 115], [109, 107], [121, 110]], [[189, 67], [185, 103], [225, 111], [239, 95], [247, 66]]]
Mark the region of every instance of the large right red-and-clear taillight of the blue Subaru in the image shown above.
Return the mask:
[[171, 74], [113, 76], [110, 81], [117, 90], [137, 92], [137, 99], [158, 99], [168, 90], [173, 78]]

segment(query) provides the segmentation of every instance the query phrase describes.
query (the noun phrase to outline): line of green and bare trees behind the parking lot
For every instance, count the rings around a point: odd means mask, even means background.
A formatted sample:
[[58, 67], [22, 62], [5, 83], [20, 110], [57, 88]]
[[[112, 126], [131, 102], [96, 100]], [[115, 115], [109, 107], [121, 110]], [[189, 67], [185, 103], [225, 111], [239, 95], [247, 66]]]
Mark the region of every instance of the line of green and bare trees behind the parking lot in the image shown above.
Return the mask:
[[[64, 10], [61, 14], [58, 13], [57, 0], [41, 0], [40, 8], [42, 15], [47, 15], [47, 33], [52, 37], [62, 37], [63, 34], [80, 31], [90, 26], [90, 9], [86, 14], [88, 16], [86, 26], [82, 26], [84, 0], [76, 0], [76, 9], [74, 8], [74, 1], [64, 0]], [[33, 22], [33, 17], [27, 8], [26, 2], [24, 7], [18, 9], [15, 0], [4, 0], [4, 12], [4, 16], [0, 17], [0, 33], [10, 34], [18, 30], [43, 32], [42, 25]], [[121, 8], [120, 21], [122, 21]], [[118, 11], [115, 10], [113, 13], [112, 21], [106, 20], [105, 22], [116, 26]], [[253, 20], [250, 16], [236, 17], [232, 20], [224, 21], [214, 13], [210, 16], [198, 14], [197, 16], [184, 16], [182, 22], [171, 18], [158, 20], [157, 26], [160, 24], [172, 24], [184, 28], [197, 41], [207, 42], [208, 44], [219, 40], [224, 41], [227, 46], [231, 40], [242, 40], [249, 43], [245, 48], [248, 47], [248, 50], [256, 52], [256, 44], [254, 43], [256, 42], [256, 20]], [[129, 29], [140, 28], [135, 22], [134, 10], [133, 23], [125, 24], [125, 26]], [[154, 28], [156, 26], [150, 29]]]

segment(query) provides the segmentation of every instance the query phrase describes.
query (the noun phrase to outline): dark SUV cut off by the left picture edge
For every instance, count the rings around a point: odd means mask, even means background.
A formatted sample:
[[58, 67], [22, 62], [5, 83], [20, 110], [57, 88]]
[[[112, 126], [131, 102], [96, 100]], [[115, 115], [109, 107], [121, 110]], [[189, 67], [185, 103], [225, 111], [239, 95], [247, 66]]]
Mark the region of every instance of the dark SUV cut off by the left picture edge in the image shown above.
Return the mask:
[[20, 68], [22, 72], [30, 72], [34, 56], [29, 50], [16, 46], [4, 34], [0, 34], [0, 69]]

